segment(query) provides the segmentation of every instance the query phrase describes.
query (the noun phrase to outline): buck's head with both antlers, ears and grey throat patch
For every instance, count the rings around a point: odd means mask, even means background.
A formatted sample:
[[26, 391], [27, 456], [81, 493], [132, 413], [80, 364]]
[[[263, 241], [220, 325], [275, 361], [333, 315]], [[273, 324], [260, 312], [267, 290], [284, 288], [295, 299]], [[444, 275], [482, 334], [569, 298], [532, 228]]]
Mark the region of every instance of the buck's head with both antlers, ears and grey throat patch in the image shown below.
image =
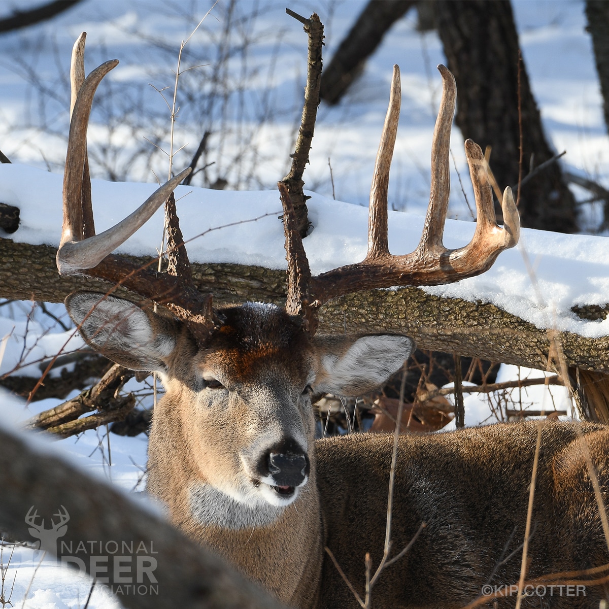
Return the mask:
[[[149, 449], [149, 488], [170, 504], [174, 519], [241, 529], [270, 523], [315, 476], [311, 395], [355, 396], [399, 370], [414, 348], [408, 337], [320, 336], [315, 309], [329, 298], [363, 289], [449, 283], [484, 272], [518, 240], [518, 213], [510, 189], [496, 224], [484, 156], [466, 142], [476, 194], [477, 225], [470, 244], [442, 245], [449, 194], [449, 135], [456, 87], [440, 66], [444, 93], [434, 133], [431, 198], [415, 252], [387, 248], [387, 183], [400, 112], [400, 75], [392, 94], [371, 188], [368, 255], [359, 264], [312, 277], [293, 226], [293, 208], [280, 185], [288, 260], [285, 309], [245, 303], [214, 309], [189, 279], [179, 231], [169, 249], [178, 275], [138, 269], [111, 251], [146, 222], [181, 172], [116, 227], [94, 236], [86, 162], [86, 125], [94, 91], [118, 62], [83, 81], [83, 39], [74, 47], [72, 86], [78, 91], [70, 127], [64, 181], [64, 225], [57, 253], [60, 273], [86, 273], [120, 283], [141, 305], [103, 294], [70, 295], [66, 306], [86, 342], [134, 370], [158, 371], [166, 395], [155, 412]], [[80, 76], [79, 76], [80, 75]], [[177, 227], [175, 214], [171, 222]], [[155, 312], [157, 303], [165, 312]]]

